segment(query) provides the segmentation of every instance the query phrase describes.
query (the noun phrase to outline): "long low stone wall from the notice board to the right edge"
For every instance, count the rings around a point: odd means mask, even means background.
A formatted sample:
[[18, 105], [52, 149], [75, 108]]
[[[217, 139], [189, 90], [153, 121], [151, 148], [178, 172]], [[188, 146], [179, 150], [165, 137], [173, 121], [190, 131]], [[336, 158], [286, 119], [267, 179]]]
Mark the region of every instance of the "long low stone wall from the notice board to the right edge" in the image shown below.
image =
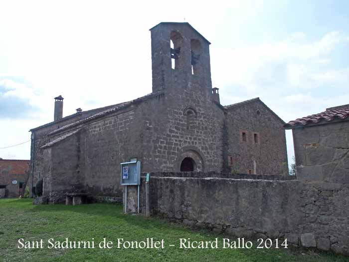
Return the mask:
[[[128, 187], [128, 212], [137, 211]], [[145, 212], [145, 178], [140, 210]], [[349, 255], [349, 185], [151, 176], [151, 213], [237, 237], [287, 238]]]

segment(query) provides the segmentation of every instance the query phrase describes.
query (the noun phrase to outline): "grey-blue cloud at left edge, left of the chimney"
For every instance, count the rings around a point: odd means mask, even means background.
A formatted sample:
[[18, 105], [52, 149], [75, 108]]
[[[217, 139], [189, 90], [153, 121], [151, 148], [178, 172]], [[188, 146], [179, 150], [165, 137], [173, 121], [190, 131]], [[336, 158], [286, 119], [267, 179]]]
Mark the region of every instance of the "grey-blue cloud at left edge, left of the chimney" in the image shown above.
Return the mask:
[[15, 78], [0, 77], [0, 119], [27, 119], [38, 113], [33, 90]]

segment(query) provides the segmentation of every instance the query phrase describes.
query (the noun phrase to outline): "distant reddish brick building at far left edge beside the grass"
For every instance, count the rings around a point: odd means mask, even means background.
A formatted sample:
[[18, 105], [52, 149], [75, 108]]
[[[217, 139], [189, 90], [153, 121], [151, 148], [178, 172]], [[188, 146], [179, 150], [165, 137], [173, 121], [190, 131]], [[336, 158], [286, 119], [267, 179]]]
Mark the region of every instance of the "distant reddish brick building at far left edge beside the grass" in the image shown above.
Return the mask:
[[28, 178], [29, 162], [0, 159], [0, 198], [19, 197]]

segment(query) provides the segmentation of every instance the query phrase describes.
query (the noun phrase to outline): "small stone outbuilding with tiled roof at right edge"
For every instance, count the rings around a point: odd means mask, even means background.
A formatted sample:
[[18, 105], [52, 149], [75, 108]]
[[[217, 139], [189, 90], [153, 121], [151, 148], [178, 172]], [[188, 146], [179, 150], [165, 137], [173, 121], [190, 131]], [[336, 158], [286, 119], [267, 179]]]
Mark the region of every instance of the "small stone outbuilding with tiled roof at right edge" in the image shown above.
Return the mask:
[[349, 183], [349, 104], [290, 121], [301, 181]]

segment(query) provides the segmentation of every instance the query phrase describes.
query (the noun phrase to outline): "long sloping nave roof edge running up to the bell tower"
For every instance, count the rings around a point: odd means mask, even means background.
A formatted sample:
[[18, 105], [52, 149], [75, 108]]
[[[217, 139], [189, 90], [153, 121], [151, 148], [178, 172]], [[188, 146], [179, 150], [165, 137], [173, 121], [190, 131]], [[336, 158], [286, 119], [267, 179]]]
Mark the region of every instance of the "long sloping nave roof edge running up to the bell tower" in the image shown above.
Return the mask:
[[52, 131], [51, 133], [49, 133], [49, 135], [53, 135], [53, 134], [56, 134], [56, 133], [59, 133], [61, 131], [64, 131], [68, 128], [71, 128], [71, 127], [75, 127], [75, 126], [78, 126], [80, 124], [83, 124], [83, 123], [86, 123], [88, 121], [91, 121], [93, 119], [97, 119], [97, 118], [100, 118], [100, 117], [103, 117], [107, 114], [110, 114], [110, 113], [114, 113], [114, 112], [117, 112], [119, 110], [122, 110], [122, 109], [125, 109], [133, 104], [137, 104], [137, 103], [140, 103], [140, 102], [143, 102], [145, 100], [148, 100], [152, 97], [155, 97], [155, 96], [159, 96], [161, 94], [164, 94], [163, 91], [158, 91], [158, 92], [154, 92], [154, 93], [150, 93], [148, 95], [145, 95], [145, 96], [142, 96], [142, 97], [139, 97], [137, 99], [134, 99], [134, 100], [131, 100], [131, 101], [128, 101], [128, 102], [123, 102], [123, 103], [120, 103], [120, 104], [117, 104], [117, 105], [114, 105], [113, 107], [107, 109], [107, 110], [104, 110], [102, 112], [99, 112], [99, 113], [96, 113], [92, 116], [89, 116], [89, 117], [86, 117], [84, 119], [81, 119], [79, 121], [76, 121], [74, 123], [71, 123], [71, 124], [67, 124], [65, 126], [62, 126], [54, 131]]

